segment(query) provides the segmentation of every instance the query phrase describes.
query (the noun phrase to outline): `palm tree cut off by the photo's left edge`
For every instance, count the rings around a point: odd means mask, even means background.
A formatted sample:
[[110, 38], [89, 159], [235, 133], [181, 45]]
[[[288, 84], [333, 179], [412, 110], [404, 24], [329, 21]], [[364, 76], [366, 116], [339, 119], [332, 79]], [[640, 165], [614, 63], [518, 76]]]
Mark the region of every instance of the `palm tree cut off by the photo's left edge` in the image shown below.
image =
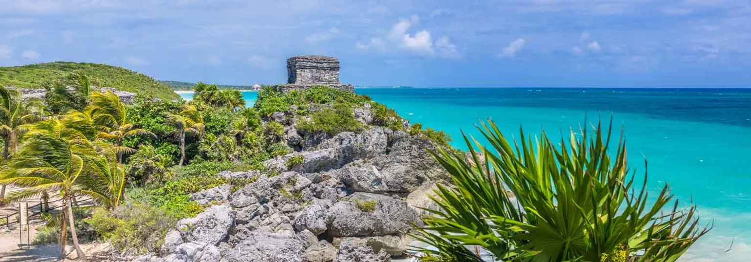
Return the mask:
[[[8, 161], [16, 152], [18, 138], [29, 129], [29, 124], [39, 119], [31, 110], [31, 105], [23, 103], [21, 93], [16, 89], [0, 86], [0, 135], [3, 136], [3, 160]], [[0, 189], [0, 198], [5, 196], [5, 185]]]

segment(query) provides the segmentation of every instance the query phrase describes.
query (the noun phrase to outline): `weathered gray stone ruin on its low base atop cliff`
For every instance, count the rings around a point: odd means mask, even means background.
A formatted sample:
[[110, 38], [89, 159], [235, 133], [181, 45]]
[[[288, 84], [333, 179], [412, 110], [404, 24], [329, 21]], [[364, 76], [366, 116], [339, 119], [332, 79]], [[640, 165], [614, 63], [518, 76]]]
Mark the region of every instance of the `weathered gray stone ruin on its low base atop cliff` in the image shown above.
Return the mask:
[[339, 83], [339, 60], [330, 56], [294, 56], [287, 59], [287, 83], [274, 86], [274, 89], [289, 92], [313, 86], [354, 92], [354, 86]]

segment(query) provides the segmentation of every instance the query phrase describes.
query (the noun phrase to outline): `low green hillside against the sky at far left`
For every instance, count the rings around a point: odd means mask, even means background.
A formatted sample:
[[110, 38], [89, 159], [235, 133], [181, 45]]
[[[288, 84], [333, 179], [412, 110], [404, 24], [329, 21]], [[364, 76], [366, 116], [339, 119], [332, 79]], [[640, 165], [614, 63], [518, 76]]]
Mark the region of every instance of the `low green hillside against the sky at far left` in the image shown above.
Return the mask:
[[95, 86], [114, 87], [134, 93], [148, 93], [155, 98], [179, 99], [168, 86], [153, 78], [112, 65], [77, 62], [50, 62], [35, 65], [0, 67], [0, 86], [22, 89], [41, 89], [43, 83], [60, 79], [73, 71], [83, 71], [95, 81]]

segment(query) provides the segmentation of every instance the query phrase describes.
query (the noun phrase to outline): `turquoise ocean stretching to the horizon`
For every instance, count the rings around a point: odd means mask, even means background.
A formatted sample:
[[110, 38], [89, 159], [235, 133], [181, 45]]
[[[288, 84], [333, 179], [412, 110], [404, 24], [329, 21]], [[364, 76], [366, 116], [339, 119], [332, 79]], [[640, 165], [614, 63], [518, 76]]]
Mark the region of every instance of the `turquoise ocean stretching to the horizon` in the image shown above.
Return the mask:
[[[446, 131], [466, 149], [461, 131], [493, 119], [507, 137], [544, 130], [553, 139], [571, 128], [613, 119], [623, 129], [629, 164], [644, 173], [650, 194], [667, 183], [693, 202], [713, 230], [685, 261], [751, 261], [751, 89], [357, 88], [410, 122]], [[257, 92], [243, 92], [249, 106]], [[190, 99], [192, 94], [183, 93]], [[587, 122], [584, 122], [587, 119]], [[728, 249], [730, 249], [728, 251]]]

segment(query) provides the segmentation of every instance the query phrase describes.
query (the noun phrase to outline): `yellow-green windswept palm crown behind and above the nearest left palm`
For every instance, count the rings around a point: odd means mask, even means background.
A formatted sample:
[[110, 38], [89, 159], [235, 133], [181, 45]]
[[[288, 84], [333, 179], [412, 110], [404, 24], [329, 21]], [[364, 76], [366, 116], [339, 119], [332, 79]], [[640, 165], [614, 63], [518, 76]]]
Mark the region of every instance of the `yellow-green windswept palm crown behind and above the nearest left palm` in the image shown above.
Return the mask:
[[131, 152], [131, 148], [122, 146], [125, 137], [143, 135], [156, 138], [156, 135], [146, 129], [134, 128], [128, 121], [125, 104], [113, 92], [94, 92], [91, 95], [92, 104], [86, 112], [91, 116], [94, 125], [100, 130], [97, 137], [115, 140], [117, 162], [122, 163], [122, 152]]

